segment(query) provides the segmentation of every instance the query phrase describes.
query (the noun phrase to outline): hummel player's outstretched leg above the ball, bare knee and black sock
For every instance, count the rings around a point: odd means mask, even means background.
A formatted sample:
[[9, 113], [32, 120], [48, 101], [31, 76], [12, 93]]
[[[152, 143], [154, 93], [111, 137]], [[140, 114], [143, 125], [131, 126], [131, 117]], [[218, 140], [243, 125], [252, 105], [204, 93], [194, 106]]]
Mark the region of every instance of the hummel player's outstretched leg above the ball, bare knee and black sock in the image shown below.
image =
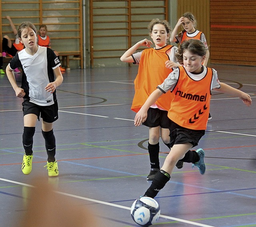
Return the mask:
[[175, 164], [185, 156], [190, 148], [192, 148], [192, 144], [190, 143], [174, 144], [172, 152], [167, 155], [164, 165], [154, 177], [151, 186], [145, 192], [144, 196], [154, 198], [160, 189], [164, 188], [166, 183], [170, 180]]

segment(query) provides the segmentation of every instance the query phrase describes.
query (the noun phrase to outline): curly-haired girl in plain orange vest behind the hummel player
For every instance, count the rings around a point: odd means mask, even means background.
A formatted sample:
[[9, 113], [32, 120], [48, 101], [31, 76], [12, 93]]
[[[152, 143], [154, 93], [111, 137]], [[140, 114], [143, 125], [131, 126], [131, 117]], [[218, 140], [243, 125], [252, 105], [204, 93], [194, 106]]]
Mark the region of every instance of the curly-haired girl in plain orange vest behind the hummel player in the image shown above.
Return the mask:
[[[132, 111], [138, 112], [149, 95], [156, 89], [156, 86], [179, 66], [176, 63], [175, 53], [177, 47], [167, 45], [171, 29], [166, 20], [154, 19], [150, 22], [148, 29], [155, 47], [147, 48], [135, 53], [141, 47], [150, 47], [152, 41], [143, 39], [128, 49], [120, 58], [121, 61], [139, 65], [138, 74], [134, 80], [135, 94], [132, 101]], [[170, 148], [170, 131], [168, 129], [168, 109], [172, 94], [169, 92], [150, 105], [148, 118], [143, 123], [149, 128], [148, 152], [150, 157], [151, 170], [147, 180], [152, 180], [160, 170], [159, 163], [159, 138], [161, 136], [164, 144]], [[183, 162], [177, 165], [182, 168]]]

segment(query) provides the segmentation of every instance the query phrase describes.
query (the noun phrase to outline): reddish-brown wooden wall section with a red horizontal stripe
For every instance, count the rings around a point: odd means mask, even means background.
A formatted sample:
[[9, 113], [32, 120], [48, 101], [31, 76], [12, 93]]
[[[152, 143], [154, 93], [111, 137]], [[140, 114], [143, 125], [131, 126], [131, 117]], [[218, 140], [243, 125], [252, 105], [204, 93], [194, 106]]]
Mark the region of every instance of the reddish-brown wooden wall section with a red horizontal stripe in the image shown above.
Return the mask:
[[256, 65], [256, 1], [210, 0], [211, 63]]

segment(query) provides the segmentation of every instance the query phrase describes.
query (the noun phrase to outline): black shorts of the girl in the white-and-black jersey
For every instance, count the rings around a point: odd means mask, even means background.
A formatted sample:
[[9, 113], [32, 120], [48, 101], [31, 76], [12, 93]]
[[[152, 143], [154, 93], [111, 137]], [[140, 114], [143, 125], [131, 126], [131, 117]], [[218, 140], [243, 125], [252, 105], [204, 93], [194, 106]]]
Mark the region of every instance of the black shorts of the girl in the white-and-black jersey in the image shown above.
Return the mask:
[[54, 104], [50, 106], [39, 106], [31, 103], [25, 99], [22, 103], [23, 116], [26, 114], [35, 114], [39, 120], [41, 117], [44, 122], [52, 123], [58, 119], [58, 102], [54, 101]]

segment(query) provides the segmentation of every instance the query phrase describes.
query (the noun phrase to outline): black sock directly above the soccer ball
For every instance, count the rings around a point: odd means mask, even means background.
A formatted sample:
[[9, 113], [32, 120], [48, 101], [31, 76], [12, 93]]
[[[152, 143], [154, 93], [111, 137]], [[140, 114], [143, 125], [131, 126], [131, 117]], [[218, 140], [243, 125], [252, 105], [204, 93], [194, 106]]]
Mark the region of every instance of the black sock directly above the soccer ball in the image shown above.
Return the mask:
[[170, 180], [170, 175], [166, 173], [164, 170], [160, 170], [154, 179], [152, 180], [152, 184], [145, 192], [144, 196], [148, 196], [154, 198], [157, 193], [164, 188], [166, 183]]

